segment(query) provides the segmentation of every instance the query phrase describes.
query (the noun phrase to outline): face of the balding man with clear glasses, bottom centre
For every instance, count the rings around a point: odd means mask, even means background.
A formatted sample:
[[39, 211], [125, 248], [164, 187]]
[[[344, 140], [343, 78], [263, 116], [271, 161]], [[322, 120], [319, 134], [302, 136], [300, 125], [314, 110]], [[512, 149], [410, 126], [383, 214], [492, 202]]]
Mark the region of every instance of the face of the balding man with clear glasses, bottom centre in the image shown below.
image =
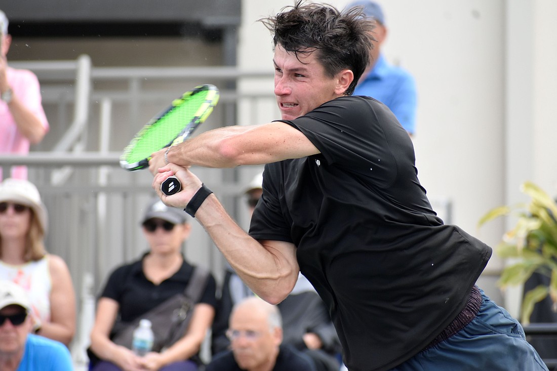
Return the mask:
[[257, 370], [275, 363], [282, 333], [279, 328], [270, 329], [267, 317], [261, 311], [249, 308], [235, 311], [227, 334], [234, 359], [241, 369]]

